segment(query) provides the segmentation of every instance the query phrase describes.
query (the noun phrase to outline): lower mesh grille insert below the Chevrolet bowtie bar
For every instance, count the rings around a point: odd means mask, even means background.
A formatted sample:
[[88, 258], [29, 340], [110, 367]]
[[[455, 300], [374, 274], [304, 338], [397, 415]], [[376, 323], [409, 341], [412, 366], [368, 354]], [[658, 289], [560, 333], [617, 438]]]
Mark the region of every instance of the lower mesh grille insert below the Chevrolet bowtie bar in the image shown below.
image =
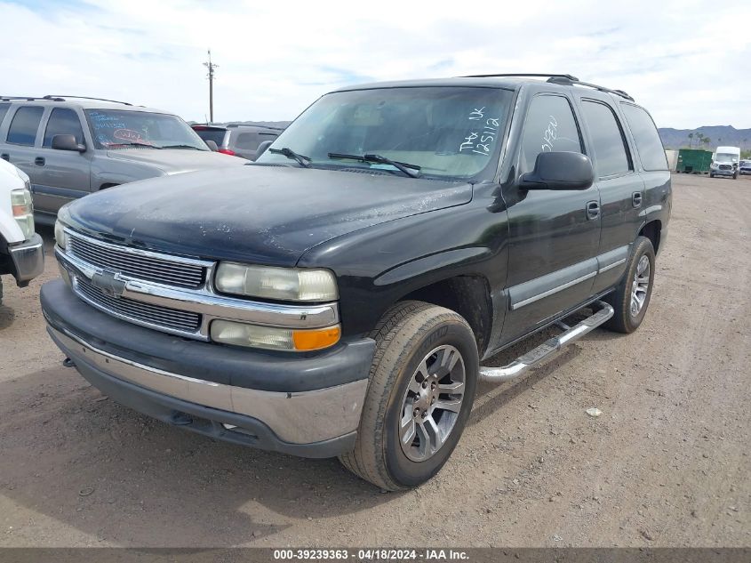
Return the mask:
[[74, 288], [84, 301], [140, 325], [158, 327], [171, 333], [196, 333], [201, 326], [202, 318], [199, 313], [137, 302], [125, 297], [116, 298], [99, 287], [92, 286], [85, 277], [76, 277]]

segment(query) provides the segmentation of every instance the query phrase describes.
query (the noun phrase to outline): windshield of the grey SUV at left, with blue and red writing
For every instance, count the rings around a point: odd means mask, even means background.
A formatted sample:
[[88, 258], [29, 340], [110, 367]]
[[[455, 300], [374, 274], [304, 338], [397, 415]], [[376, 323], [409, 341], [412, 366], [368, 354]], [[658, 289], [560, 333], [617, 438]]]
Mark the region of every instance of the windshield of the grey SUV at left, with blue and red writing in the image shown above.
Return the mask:
[[98, 149], [176, 147], [209, 150], [180, 117], [148, 111], [86, 109], [86, 118]]

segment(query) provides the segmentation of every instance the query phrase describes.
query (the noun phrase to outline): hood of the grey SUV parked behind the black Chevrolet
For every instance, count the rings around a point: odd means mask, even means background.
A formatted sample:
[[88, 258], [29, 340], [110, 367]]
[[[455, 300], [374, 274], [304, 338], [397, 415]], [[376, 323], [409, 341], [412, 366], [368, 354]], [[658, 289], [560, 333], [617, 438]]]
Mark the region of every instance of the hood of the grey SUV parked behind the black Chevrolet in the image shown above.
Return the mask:
[[220, 166], [244, 165], [244, 158], [230, 157], [211, 150], [193, 149], [113, 149], [109, 158], [154, 166], [168, 174], [194, 172]]

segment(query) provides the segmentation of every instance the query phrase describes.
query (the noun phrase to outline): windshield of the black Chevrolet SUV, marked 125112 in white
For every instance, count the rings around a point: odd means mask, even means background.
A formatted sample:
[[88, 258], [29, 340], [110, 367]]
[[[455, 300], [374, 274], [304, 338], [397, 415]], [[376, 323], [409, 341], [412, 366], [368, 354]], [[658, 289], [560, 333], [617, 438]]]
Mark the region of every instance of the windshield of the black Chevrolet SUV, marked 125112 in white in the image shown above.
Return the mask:
[[[291, 149], [312, 167], [397, 172], [391, 160], [420, 176], [471, 178], [497, 163], [511, 97], [497, 88], [449, 86], [333, 92], [271, 147]], [[379, 159], [351, 158], [366, 155]], [[268, 150], [257, 162], [291, 161]]]

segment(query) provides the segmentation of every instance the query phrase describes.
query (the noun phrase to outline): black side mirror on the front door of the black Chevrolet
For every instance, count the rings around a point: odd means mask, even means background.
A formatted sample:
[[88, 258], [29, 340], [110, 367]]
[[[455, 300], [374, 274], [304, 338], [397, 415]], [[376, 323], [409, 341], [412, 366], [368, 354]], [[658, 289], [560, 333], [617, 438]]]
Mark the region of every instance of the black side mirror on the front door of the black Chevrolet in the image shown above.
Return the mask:
[[522, 175], [523, 189], [587, 189], [595, 181], [592, 161], [578, 152], [541, 152], [534, 170]]

